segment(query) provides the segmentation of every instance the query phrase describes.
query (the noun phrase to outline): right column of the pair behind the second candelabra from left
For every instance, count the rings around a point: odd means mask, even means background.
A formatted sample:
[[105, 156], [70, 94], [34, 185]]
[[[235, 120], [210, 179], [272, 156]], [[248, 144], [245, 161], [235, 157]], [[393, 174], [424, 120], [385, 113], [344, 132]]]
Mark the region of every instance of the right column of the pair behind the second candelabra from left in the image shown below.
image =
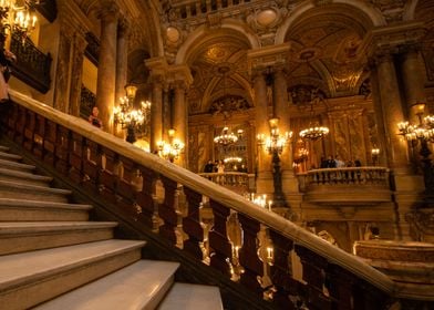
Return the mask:
[[[187, 120], [187, 104], [186, 104], [186, 89], [187, 85], [184, 81], [176, 81], [174, 84], [175, 86], [175, 104], [174, 104], [174, 120], [173, 125], [176, 131], [175, 137], [180, 140], [187, 146], [187, 138], [188, 138], [188, 120]], [[176, 163], [182, 166], [187, 166], [187, 149], [179, 155], [179, 158]]]

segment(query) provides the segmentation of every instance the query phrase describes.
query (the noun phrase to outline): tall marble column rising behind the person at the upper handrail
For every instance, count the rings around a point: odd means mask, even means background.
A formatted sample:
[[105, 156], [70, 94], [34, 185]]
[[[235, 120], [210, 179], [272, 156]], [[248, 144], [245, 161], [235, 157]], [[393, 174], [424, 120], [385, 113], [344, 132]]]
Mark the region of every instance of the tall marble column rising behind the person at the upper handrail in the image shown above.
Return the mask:
[[116, 35], [118, 9], [108, 2], [101, 10], [101, 38], [96, 82], [96, 106], [103, 128], [113, 132], [113, 107], [116, 82]]

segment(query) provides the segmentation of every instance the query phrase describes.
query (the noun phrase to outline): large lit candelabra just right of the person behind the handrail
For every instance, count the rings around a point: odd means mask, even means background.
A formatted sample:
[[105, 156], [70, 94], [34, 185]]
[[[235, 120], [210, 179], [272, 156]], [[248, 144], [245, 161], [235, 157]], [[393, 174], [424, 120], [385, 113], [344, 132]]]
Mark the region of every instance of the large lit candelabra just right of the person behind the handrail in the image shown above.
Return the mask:
[[140, 131], [151, 115], [151, 102], [142, 101], [140, 108], [134, 108], [134, 97], [137, 87], [134, 85], [125, 86], [126, 96], [121, 97], [120, 105], [113, 110], [113, 118], [116, 125], [121, 125], [123, 130], [127, 130], [126, 141], [136, 142], [135, 132]]

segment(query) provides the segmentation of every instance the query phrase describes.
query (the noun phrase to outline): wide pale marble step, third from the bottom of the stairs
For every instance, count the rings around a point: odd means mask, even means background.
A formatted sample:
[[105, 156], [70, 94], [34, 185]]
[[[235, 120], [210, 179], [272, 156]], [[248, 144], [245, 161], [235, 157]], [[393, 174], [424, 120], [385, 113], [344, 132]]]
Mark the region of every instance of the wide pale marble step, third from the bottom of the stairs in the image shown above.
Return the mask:
[[140, 260], [144, 245], [112, 239], [0, 256], [0, 304], [18, 310], [53, 299]]

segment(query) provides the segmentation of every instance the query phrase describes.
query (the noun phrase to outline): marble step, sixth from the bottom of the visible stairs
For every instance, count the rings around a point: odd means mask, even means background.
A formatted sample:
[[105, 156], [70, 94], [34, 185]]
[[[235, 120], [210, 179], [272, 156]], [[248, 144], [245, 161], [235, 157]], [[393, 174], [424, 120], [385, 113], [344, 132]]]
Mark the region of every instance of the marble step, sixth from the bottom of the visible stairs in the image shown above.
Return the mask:
[[71, 194], [72, 192], [69, 189], [0, 180], [0, 198], [20, 197], [20, 199], [69, 203], [68, 197]]

